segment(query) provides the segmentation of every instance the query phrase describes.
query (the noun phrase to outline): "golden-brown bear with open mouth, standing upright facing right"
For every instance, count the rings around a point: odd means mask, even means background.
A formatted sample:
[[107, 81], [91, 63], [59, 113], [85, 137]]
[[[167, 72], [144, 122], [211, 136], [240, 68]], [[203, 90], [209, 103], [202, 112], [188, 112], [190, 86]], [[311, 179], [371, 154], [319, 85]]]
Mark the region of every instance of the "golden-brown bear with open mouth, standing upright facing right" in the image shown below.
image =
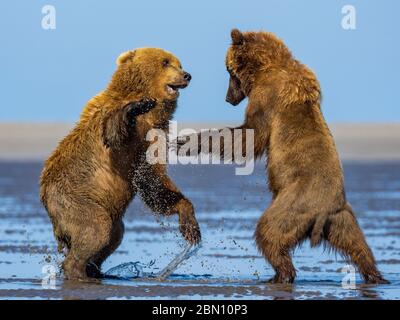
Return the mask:
[[147, 132], [168, 129], [179, 89], [191, 76], [174, 55], [156, 48], [125, 52], [117, 65], [108, 87], [88, 102], [45, 162], [40, 179], [59, 250], [66, 249], [68, 279], [101, 275], [101, 264], [121, 243], [122, 218], [136, 193], [157, 213], [177, 213], [184, 238], [200, 241], [191, 202], [166, 165], [146, 161]]

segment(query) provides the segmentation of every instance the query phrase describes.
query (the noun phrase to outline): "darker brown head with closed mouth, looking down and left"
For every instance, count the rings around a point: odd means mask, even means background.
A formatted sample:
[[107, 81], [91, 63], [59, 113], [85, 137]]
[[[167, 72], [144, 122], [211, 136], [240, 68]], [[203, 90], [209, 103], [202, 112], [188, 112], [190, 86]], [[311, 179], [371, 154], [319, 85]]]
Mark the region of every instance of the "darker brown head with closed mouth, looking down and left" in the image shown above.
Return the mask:
[[226, 68], [230, 74], [226, 101], [239, 104], [249, 96], [260, 73], [286, 69], [294, 61], [289, 49], [269, 32], [231, 31], [232, 45], [226, 55]]

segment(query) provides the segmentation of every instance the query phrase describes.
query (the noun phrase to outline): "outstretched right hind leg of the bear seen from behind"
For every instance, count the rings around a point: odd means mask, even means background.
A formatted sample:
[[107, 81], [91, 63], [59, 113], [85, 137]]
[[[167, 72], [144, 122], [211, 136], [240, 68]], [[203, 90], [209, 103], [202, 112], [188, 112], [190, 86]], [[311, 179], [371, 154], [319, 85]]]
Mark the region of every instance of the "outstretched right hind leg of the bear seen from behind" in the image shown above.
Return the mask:
[[366, 283], [389, 283], [377, 269], [372, 251], [348, 204], [329, 217], [326, 240], [354, 262]]

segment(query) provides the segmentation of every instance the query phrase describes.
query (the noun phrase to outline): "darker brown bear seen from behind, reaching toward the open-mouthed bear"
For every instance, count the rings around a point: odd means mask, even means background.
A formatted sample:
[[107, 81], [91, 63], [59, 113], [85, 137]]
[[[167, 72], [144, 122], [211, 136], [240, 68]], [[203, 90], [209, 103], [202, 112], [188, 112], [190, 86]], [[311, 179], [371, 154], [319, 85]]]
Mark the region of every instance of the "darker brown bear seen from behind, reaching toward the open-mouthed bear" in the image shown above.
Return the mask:
[[[342, 167], [321, 113], [314, 73], [271, 33], [234, 29], [231, 37], [226, 101], [237, 105], [248, 97], [245, 121], [235, 129], [242, 129], [243, 137], [245, 129], [253, 129], [254, 156], [267, 156], [273, 201], [258, 222], [255, 240], [276, 272], [270, 281], [294, 281], [290, 252], [310, 238], [312, 246], [323, 241], [350, 258], [367, 283], [387, 283], [346, 201]], [[202, 150], [200, 142], [196, 149], [211, 152], [209, 145]], [[223, 156], [228, 146], [220, 146]]]

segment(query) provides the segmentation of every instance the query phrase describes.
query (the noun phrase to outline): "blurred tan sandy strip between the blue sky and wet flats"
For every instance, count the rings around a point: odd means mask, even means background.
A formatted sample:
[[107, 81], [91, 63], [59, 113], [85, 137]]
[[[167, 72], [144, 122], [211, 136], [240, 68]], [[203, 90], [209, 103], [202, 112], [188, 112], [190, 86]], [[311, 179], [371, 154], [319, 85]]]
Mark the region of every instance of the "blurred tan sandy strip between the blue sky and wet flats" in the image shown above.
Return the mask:
[[[235, 126], [227, 123], [225, 126]], [[0, 160], [43, 160], [71, 123], [0, 123]], [[223, 128], [221, 123], [178, 123], [182, 128]], [[400, 124], [331, 124], [343, 161], [400, 160]]]

